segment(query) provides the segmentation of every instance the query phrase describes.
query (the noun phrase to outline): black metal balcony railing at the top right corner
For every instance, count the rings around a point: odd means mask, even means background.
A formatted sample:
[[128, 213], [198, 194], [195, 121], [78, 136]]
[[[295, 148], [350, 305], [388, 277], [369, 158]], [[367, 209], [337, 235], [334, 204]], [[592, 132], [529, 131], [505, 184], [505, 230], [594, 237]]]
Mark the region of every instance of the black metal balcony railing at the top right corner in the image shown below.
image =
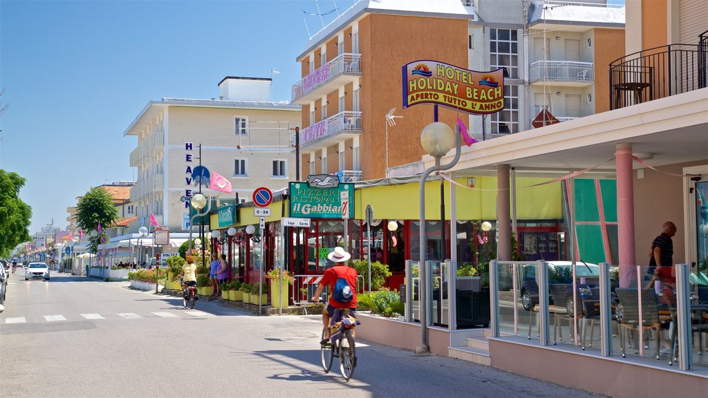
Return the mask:
[[706, 87], [708, 31], [700, 44], [650, 48], [610, 63], [610, 107], [624, 108]]

